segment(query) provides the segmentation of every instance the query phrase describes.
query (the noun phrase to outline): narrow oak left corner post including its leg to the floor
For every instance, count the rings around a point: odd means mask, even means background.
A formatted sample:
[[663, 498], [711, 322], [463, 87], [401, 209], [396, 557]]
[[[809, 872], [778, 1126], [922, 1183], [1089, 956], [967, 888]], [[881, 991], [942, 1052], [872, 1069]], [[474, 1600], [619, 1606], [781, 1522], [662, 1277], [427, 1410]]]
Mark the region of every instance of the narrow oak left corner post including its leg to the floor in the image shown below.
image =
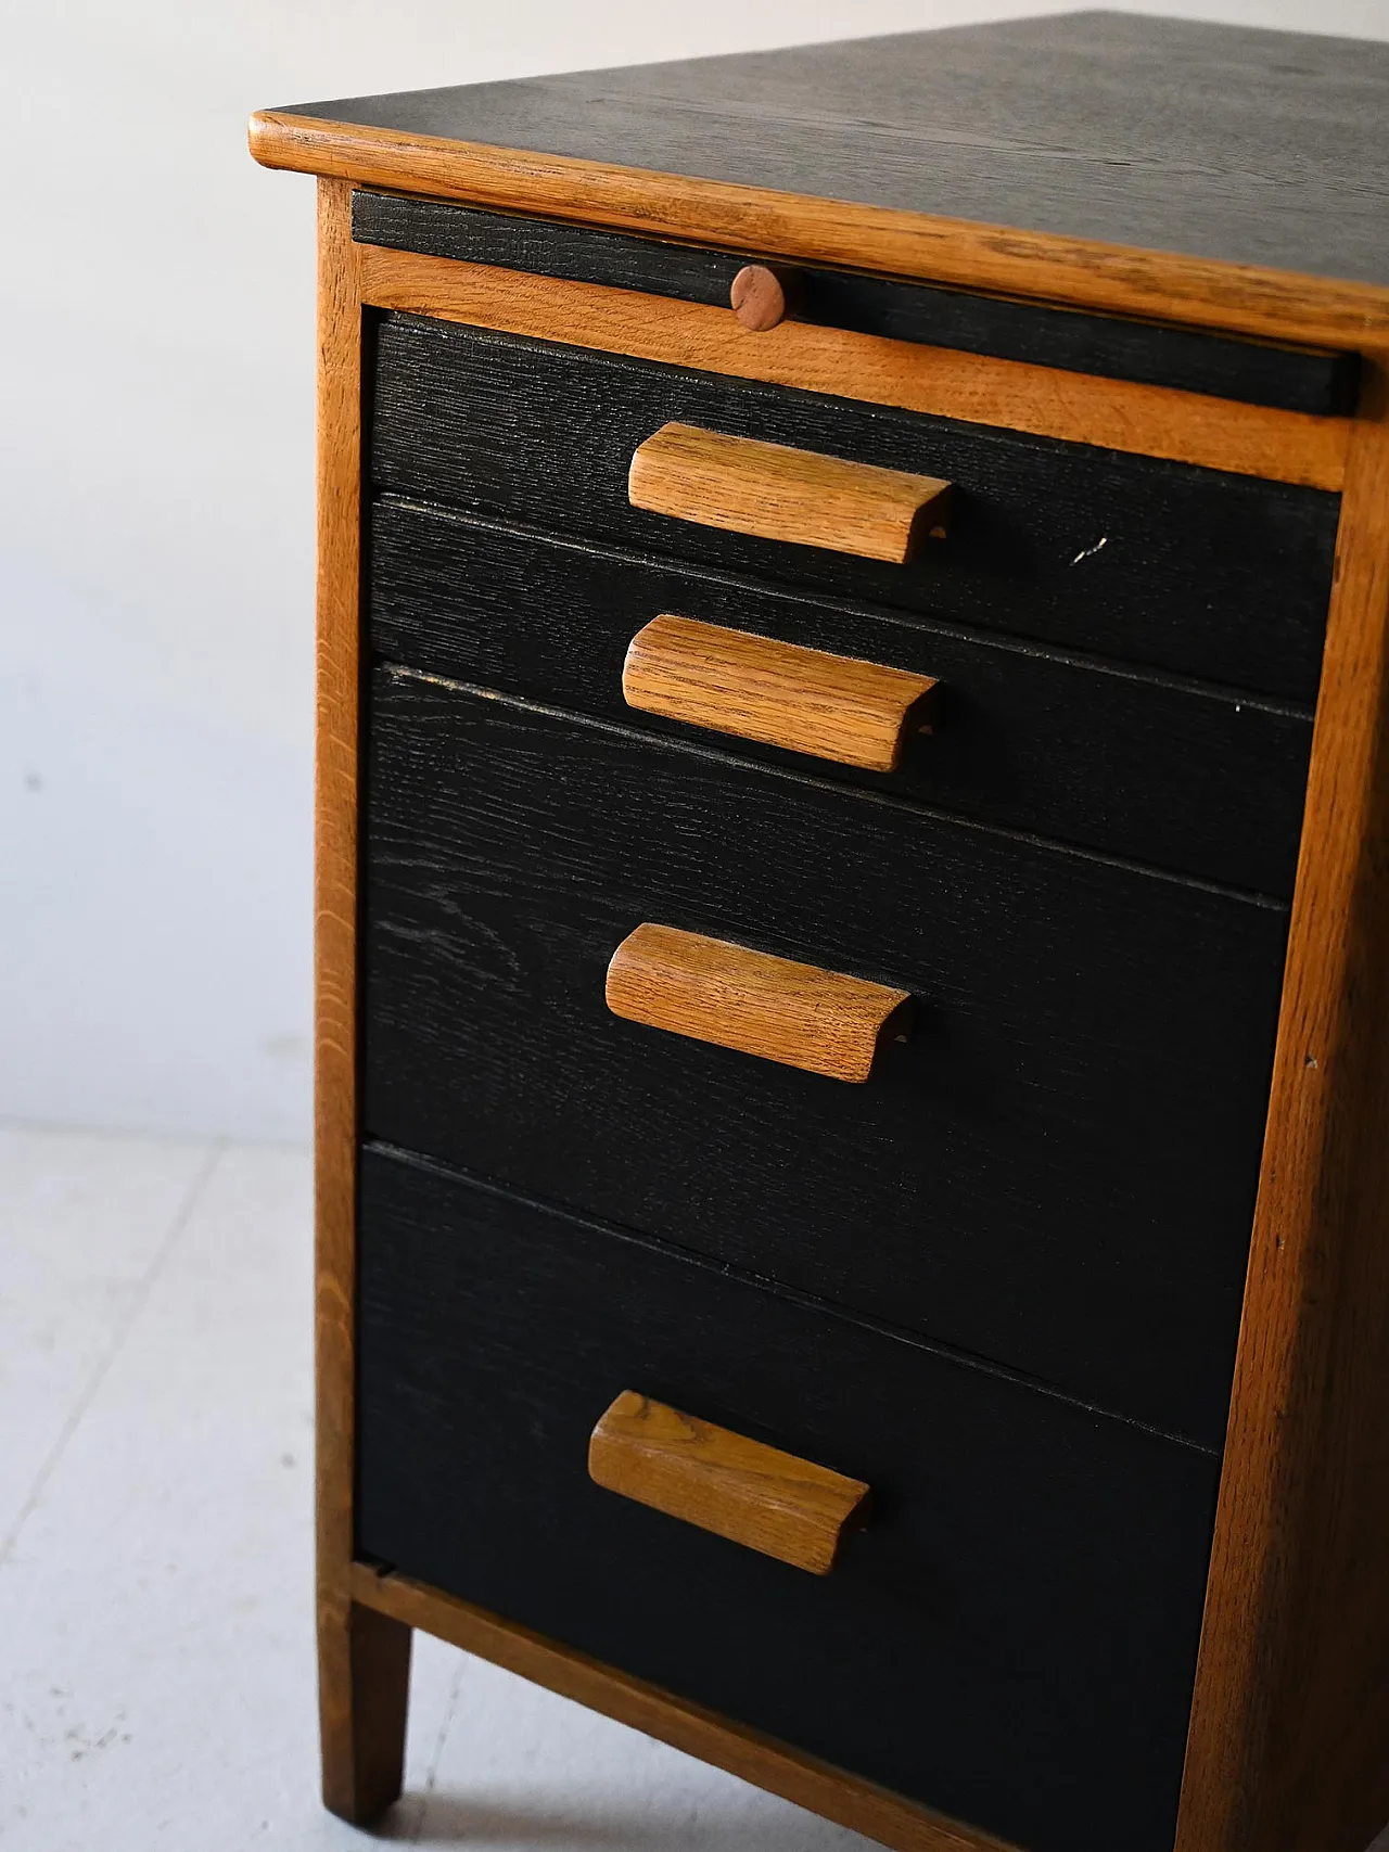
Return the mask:
[[409, 1630], [352, 1602], [357, 1217], [357, 633], [361, 304], [352, 202], [319, 185], [315, 763], [315, 1404], [324, 1804], [369, 1821], [400, 1793]]

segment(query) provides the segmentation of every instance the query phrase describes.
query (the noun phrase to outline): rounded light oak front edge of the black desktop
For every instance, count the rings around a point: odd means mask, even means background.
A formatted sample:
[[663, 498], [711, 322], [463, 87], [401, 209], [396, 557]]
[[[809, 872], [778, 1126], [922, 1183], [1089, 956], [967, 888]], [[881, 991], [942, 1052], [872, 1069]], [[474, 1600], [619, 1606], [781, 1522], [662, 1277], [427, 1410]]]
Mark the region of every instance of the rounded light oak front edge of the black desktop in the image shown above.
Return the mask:
[[1332, 348], [1359, 348], [1389, 335], [1389, 291], [1374, 283], [1296, 276], [276, 109], [250, 119], [250, 152], [263, 167], [337, 174], [402, 193], [574, 219], [750, 256], [774, 252], [789, 261], [952, 283], [1111, 315]]

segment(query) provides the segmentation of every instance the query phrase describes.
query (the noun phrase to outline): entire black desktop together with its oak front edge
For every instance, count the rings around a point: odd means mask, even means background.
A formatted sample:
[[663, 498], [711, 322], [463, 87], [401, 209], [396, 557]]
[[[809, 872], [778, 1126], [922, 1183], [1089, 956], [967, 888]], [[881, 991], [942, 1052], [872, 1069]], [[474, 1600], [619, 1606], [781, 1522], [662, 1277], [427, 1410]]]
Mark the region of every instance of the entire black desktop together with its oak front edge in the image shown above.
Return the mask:
[[1083, 13], [265, 111], [252, 152], [754, 257], [1359, 346], [1389, 328], [1385, 63]]

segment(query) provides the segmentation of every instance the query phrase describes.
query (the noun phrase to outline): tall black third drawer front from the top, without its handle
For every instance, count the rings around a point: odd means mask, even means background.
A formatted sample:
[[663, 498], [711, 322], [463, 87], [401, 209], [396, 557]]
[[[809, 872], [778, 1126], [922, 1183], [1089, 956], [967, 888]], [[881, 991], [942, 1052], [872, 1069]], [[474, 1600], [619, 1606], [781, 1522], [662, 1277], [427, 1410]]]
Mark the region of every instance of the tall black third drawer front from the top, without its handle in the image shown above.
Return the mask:
[[[1220, 1446], [1285, 913], [404, 670], [365, 1130]], [[613, 1017], [656, 920], [907, 989], [846, 1085]]]

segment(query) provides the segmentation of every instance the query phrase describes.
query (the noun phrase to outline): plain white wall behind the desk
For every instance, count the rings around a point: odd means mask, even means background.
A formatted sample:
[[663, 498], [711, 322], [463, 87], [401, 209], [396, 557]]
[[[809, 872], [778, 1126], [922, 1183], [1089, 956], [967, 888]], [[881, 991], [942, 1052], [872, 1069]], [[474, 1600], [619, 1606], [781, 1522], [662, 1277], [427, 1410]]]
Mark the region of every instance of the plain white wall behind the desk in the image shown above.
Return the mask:
[[[265, 104], [1050, 0], [9, 0], [0, 1119], [309, 1122], [313, 183]], [[1133, 7], [1389, 39], [1389, 0]]]

